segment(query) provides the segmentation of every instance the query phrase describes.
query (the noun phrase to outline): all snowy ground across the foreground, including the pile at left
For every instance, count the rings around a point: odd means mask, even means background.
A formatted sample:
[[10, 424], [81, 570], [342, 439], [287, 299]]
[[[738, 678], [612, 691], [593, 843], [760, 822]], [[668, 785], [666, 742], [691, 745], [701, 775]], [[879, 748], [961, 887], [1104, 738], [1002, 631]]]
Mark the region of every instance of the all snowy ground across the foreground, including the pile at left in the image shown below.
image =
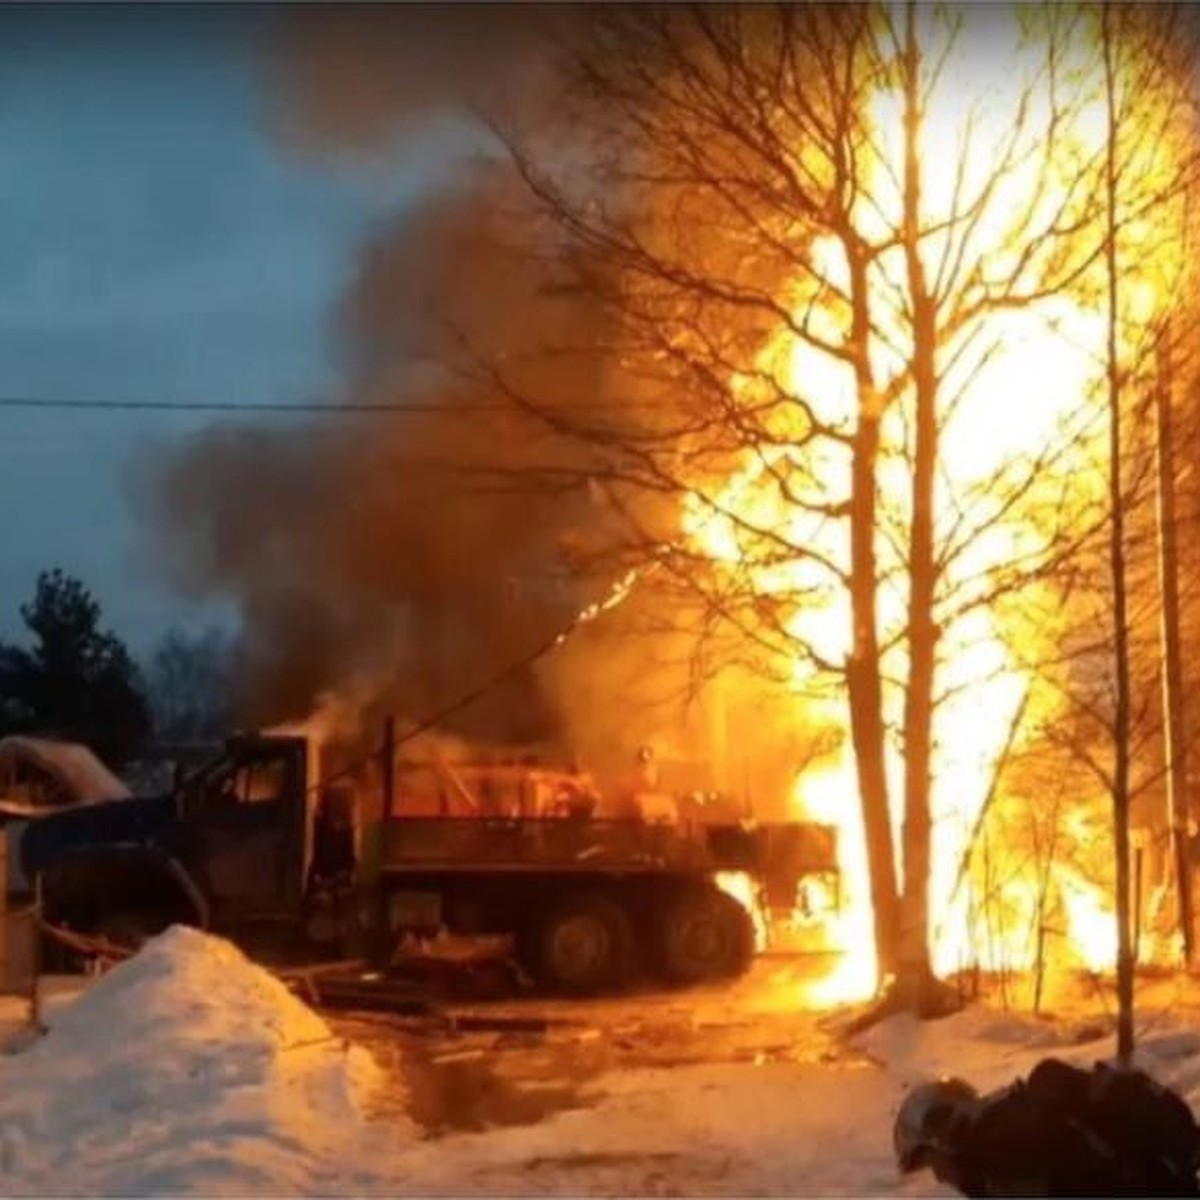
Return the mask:
[[[1081, 1008], [898, 1018], [847, 1043], [796, 995], [760, 972], [542, 1006], [569, 1021], [546, 1032], [331, 1028], [228, 943], [174, 929], [0, 1058], [0, 1194], [936, 1194], [892, 1164], [907, 1086], [989, 1088], [1111, 1048]], [[1200, 1021], [1165, 985], [1140, 1052], [1200, 1100]]]

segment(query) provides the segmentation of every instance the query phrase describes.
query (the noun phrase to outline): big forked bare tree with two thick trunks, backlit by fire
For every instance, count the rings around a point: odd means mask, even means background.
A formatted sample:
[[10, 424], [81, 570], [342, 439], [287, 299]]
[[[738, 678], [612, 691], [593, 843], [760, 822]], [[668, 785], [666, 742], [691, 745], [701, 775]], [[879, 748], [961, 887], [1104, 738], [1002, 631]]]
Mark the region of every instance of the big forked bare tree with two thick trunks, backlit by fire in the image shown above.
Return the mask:
[[[1099, 253], [1079, 235], [1094, 220], [1094, 200], [1066, 178], [1063, 161], [1069, 155], [1076, 179], [1096, 167], [1072, 128], [1072, 106], [1081, 101], [1056, 74], [1069, 19], [1046, 17], [1042, 59], [1027, 84], [1043, 90], [1037, 101], [1014, 97], [1012, 125], [986, 143], [988, 170], [978, 169], [983, 143], [972, 112], [949, 148], [950, 167], [940, 169], [950, 180], [946, 194], [926, 202], [922, 139], [930, 97], [954, 55], [961, 67], [982, 44], [961, 43], [961, 25], [962, 14], [930, 17], [914, 5], [899, 24], [890, 11], [862, 7], [606, 14], [569, 66], [578, 101], [572, 114], [584, 131], [583, 156], [598, 164], [593, 174], [581, 180], [578, 155], [559, 169], [536, 136], [503, 131], [544, 214], [592, 265], [593, 278], [620, 281], [610, 284], [610, 299], [623, 358], [653, 356], [660, 388], [650, 395], [674, 420], [622, 436], [572, 422], [545, 400], [514, 398], [559, 431], [605, 443], [635, 530], [640, 487], [685, 498], [716, 522], [736, 542], [730, 570], [706, 574], [695, 547], [690, 554], [673, 547], [666, 574], [684, 577], [762, 658], [800, 656], [818, 674], [844, 680], [880, 964], [884, 974], [904, 977], [918, 1006], [931, 978], [940, 638], [1000, 590], [998, 583], [967, 587], [949, 568], [1010, 518], [1061, 452], [1043, 449], [1020, 472], [1006, 464], [1007, 486], [986, 518], [964, 516], [947, 530], [935, 496], [940, 431], [996, 353], [988, 317], [1036, 310], [1069, 289]], [[883, 115], [872, 107], [880, 97]], [[940, 98], [947, 102], [944, 88]], [[1014, 209], [1018, 185], [1026, 203]], [[980, 228], [1002, 211], [1013, 215], [980, 244]], [[839, 412], [818, 383], [797, 380], [778, 353], [774, 361], [763, 353], [780, 331], [823, 367], [821, 383], [848, 386], [848, 406]], [[496, 382], [504, 386], [502, 371]], [[883, 460], [898, 454], [910, 480], [900, 512], [884, 510], [894, 494], [881, 500]], [[840, 494], [820, 466], [822, 456], [838, 455], [848, 457], [850, 476]], [[739, 464], [761, 492], [774, 494], [774, 505], [740, 504], [712, 484]], [[976, 480], [976, 491], [996, 482]], [[780, 527], [780, 514], [798, 517], [798, 528]], [[838, 522], [846, 523], [844, 558], [823, 551], [828, 535], [812, 536], [815, 527]], [[814, 582], [772, 596], [764, 576], [785, 564], [796, 568], [793, 578]], [[1027, 574], [1031, 563], [1007, 565]], [[906, 617], [884, 629], [881, 588], [895, 587], [907, 592]], [[848, 598], [848, 653], [840, 661], [790, 622], [822, 589]], [[902, 893], [886, 749], [886, 677], [899, 648]]]

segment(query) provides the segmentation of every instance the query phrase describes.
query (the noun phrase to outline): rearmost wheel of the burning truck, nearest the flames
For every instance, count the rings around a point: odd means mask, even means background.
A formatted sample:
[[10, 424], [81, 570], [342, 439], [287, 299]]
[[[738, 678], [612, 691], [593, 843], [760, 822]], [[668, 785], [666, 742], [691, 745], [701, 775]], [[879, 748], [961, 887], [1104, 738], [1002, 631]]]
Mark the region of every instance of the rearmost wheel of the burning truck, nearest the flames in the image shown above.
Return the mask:
[[659, 924], [659, 955], [668, 983], [733, 979], [754, 959], [754, 918], [720, 888], [692, 888], [672, 896]]

